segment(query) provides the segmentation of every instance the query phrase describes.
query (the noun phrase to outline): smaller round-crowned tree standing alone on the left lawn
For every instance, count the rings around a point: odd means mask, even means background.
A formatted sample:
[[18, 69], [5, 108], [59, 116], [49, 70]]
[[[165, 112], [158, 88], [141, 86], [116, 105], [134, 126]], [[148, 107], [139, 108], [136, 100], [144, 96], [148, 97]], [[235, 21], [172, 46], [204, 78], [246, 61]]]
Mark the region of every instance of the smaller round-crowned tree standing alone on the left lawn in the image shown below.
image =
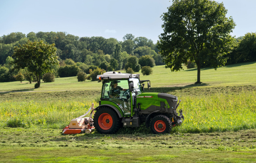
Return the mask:
[[28, 41], [24, 45], [14, 48], [12, 55], [16, 68], [25, 68], [35, 74], [37, 87], [40, 87], [42, 74], [52, 72], [51, 66], [58, 64], [55, 44], [49, 45], [43, 41]]

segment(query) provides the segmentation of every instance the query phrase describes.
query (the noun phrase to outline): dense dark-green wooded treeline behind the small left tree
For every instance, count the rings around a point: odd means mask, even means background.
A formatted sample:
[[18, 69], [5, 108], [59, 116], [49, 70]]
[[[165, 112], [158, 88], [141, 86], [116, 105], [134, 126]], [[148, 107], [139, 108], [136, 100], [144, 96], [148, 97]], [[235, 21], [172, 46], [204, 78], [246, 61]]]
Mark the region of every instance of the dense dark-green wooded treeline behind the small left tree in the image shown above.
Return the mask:
[[[121, 70], [129, 67], [138, 72], [143, 66], [162, 65], [162, 57], [156, 44], [145, 37], [135, 38], [126, 34], [123, 41], [115, 38], [79, 37], [66, 32], [21, 32], [10, 33], [0, 37], [0, 82], [15, 81], [19, 72], [13, 69], [12, 55], [14, 47], [25, 44], [28, 40], [43, 40], [55, 43], [59, 66], [53, 67], [55, 76], [76, 76], [78, 71]], [[24, 72], [24, 70], [23, 70]]]

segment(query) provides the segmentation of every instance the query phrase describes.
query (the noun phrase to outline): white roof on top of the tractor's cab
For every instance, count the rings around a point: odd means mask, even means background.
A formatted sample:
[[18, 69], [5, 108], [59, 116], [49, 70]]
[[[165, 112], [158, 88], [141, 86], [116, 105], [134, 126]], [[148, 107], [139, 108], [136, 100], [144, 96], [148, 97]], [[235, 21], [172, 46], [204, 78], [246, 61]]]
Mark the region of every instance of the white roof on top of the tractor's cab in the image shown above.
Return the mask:
[[130, 79], [130, 78], [138, 78], [140, 79], [140, 74], [126, 74], [120, 72], [106, 72], [103, 75], [97, 75], [97, 80], [121, 80], [121, 79]]

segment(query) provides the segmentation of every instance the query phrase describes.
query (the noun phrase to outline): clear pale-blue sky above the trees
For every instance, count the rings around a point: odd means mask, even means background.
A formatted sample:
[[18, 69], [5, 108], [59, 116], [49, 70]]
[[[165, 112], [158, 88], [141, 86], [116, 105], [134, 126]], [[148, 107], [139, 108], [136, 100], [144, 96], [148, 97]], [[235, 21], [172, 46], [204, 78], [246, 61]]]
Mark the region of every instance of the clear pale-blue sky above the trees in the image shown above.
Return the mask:
[[[236, 27], [232, 36], [256, 32], [256, 0], [223, 2]], [[123, 41], [133, 34], [154, 43], [163, 33], [161, 15], [172, 0], [0, 0], [0, 36], [12, 32], [67, 32]]]

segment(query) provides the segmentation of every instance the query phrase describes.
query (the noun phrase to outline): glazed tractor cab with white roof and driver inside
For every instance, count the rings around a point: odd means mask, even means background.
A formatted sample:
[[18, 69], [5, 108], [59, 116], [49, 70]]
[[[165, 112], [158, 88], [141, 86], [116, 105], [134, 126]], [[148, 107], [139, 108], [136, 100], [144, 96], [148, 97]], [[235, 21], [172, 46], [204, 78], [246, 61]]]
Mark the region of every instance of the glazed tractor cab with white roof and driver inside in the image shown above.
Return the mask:
[[102, 80], [101, 105], [110, 104], [120, 111], [122, 116], [132, 116], [135, 96], [142, 93], [140, 74], [118, 74], [107, 72], [98, 75]]

